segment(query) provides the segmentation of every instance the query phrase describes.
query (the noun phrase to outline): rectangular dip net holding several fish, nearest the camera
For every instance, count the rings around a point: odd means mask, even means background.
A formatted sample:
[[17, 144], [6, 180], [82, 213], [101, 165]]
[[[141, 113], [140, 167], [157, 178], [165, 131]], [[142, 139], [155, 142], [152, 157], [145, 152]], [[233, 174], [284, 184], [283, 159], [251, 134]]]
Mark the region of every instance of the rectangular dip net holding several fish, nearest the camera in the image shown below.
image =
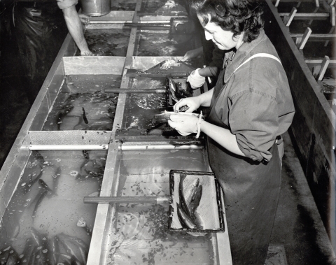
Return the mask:
[[169, 229], [188, 232], [225, 230], [221, 191], [213, 173], [170, 172]]

